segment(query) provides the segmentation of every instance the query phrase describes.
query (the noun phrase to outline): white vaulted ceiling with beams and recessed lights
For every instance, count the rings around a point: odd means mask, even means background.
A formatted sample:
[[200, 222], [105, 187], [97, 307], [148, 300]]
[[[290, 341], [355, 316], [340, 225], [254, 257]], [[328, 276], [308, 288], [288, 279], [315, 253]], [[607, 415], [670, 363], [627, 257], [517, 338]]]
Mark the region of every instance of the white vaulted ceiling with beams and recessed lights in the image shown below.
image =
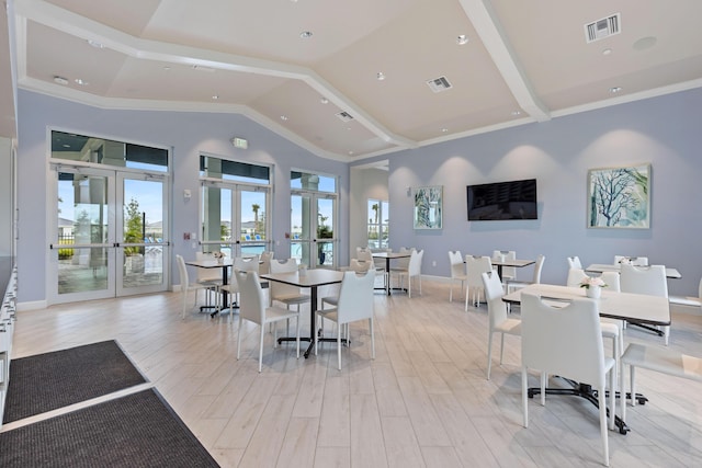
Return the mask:
[[[241, 113], [344, 161], [702, 85], [700, 0], [8, 4], [1, 135], [14, 132], [10, 62], [22, 89], [105, 109]], [[615, 13], [621, 33], [587, 44], [584, 25]], [[434, 93], [427, 81], [440, 77], [452, 88]]]

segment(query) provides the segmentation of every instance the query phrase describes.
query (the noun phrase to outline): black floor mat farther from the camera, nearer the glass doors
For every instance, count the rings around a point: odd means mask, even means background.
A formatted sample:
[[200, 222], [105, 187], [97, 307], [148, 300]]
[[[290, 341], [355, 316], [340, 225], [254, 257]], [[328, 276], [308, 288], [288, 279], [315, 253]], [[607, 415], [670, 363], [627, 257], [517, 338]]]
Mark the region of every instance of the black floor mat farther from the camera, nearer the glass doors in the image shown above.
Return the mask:
[[114, 341], [12, 359], [3, 423], [145, 383]]

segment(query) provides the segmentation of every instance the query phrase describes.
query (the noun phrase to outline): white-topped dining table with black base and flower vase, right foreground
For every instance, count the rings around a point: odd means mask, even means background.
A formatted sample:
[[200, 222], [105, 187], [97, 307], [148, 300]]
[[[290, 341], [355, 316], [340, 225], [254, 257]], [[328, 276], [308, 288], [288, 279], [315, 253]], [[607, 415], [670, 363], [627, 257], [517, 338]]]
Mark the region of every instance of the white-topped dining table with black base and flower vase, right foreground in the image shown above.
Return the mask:
[[[532, 284], [502, 296], [502, 300], [507, 304], [519, 305], [521, 304], [521, 295], [524, 293], [540, 296], [545, 303], [556, 307], [559, 304], [565, 305], [575, 298], [587, 297], [585, 288], [581, 287]], [[670, 307], [667, 297], [602, 289], [600, 298], [592, 300], [597, 301], [600, 317], [631, 320], [649, 326], [670, 324]], [[595, 406], [599, 404], [590, 385], [573, 381], [570, 384], [573, 385], [571, 388], [546, 388], [545, 391], [551, 395], [575, 395], [587, 399]], [[532, 398], [540, 392], [540, 387], [530, 388], [529, 397]], [[622, 395], [624, 398], [636, 398], [639, 403], [647, 401], [646, 397], [638, 393]], [[629, 426], [621, 418], [615, 415], [614, 423], [621, 434], [629, 432]]]

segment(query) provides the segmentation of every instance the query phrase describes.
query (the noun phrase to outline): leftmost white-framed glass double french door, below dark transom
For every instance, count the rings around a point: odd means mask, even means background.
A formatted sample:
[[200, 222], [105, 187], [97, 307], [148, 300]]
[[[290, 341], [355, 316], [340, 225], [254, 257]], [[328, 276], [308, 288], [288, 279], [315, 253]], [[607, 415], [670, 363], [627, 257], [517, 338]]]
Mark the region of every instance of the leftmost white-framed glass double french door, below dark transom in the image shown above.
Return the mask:
[[63, 164], [52, 171], [50, 301], [167, 290], [167, 176]]

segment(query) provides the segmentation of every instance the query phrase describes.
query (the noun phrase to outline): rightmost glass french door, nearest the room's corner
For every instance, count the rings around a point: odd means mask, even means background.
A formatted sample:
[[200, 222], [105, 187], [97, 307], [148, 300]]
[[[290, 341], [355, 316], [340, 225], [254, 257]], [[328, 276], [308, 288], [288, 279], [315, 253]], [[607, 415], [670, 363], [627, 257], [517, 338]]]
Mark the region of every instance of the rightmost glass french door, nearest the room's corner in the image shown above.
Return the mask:
[[290, 255], [309, 267], [337, 266], [337, 197], [293, 191]]

